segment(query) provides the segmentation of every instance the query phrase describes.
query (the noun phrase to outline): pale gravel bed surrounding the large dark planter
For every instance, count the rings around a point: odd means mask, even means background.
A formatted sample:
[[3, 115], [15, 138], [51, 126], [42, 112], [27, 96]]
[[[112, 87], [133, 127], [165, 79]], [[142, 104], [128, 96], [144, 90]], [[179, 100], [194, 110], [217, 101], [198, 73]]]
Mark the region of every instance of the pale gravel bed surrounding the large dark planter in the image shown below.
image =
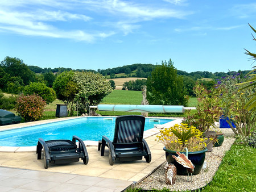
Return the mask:
[[220, 147], [214, 147], [212, 152], [206, 153], [205, 162], [207, 167], [202, 169], [199, 174], [192, 176], [192, 182], [191, 176], [189, 176], [189, 181], [187, 180], [187, 176], [177, 176], [174, 185], [167, 185], [164, 177], [164, 165], [166, 162], [164, 162], [158, 169], [156, 169], [154, 173], [137, 183], [135, 187], [143, 190], [163, 189], [166, 187], [167, 189], [177, 191], [196, 190], [204, 187], [207, 185], [207, 183], [212, 181], [212, 178], [215, 172], [218, 170], [218, 166], [220, 166], [225, 152], [229, 151], [230, 147], [235, 141], [234, 133], [230, 128], [221, 129], [221, 131], [225, 136], [224, 143]]

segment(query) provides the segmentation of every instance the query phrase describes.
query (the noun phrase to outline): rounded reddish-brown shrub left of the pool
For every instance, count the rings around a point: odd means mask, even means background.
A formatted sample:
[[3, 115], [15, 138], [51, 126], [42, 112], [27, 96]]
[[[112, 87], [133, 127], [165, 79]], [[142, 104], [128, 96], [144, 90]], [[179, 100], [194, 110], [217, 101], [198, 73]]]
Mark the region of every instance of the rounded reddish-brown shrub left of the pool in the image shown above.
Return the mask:
[[16, 111], [26, 122], [39, 120], [44, 114], [46, 102], [38, 95], [21, 95], [17, 99]]

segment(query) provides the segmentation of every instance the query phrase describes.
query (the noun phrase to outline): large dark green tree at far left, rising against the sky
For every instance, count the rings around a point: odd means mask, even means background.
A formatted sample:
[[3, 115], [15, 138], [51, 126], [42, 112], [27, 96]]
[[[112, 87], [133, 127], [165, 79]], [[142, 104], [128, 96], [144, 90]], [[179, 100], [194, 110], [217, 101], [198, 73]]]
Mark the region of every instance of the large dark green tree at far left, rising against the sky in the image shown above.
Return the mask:
[[24, 85], [35, 81], [35, 73], [24, 62], [16, 57], [5, 57], [1, 66], [11, 77], [20, 77]]

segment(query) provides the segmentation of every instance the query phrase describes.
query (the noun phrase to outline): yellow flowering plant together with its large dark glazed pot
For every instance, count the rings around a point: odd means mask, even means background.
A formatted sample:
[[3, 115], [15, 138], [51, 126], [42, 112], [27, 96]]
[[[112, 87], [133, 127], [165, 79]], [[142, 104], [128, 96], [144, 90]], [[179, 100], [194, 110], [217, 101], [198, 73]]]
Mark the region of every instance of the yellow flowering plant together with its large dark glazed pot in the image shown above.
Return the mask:
[[205, 139], [201, 137], [203, 132], [188, 124], [175, 124], [174, 127], [160, 130], [157, 135], [159, 142], [164, 144], [163, 150], [166, 152], [166, 160], [170, 164], [174, 164], [177, 168], [177, 174], [187, 175], [187, 169], [177, 163], [172, 155], [177, 156], [176, 152], [185, 153], [188, 149], [188, 159], [191, 160], [195, 169], [193, 174], [199, 174], [205, 160], [205, 152], [207, 144]]

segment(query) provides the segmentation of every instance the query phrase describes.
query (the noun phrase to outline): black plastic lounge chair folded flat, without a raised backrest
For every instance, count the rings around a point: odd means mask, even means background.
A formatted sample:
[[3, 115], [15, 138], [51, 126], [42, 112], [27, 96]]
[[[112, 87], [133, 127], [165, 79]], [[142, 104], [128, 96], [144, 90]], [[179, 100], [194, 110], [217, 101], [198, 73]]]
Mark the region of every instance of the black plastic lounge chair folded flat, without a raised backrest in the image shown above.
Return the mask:
[[[79, 141], [77, 148], [76, 140]], [[86, 151], [84, 142], [77, 136], [73, 136], [71, 140], [49, 140], [44, 141], [42, 138], [38, 139], [36, 146], [36, 153], [38, 159], [41, 159], [42, 149], [44, 149], [44, 168], [48, 168], [49, 162], [55, 164], [66, 164], [69, 162], [77, 162], [82, 158], [84, 164], [88, 164], [89, 157]]]

